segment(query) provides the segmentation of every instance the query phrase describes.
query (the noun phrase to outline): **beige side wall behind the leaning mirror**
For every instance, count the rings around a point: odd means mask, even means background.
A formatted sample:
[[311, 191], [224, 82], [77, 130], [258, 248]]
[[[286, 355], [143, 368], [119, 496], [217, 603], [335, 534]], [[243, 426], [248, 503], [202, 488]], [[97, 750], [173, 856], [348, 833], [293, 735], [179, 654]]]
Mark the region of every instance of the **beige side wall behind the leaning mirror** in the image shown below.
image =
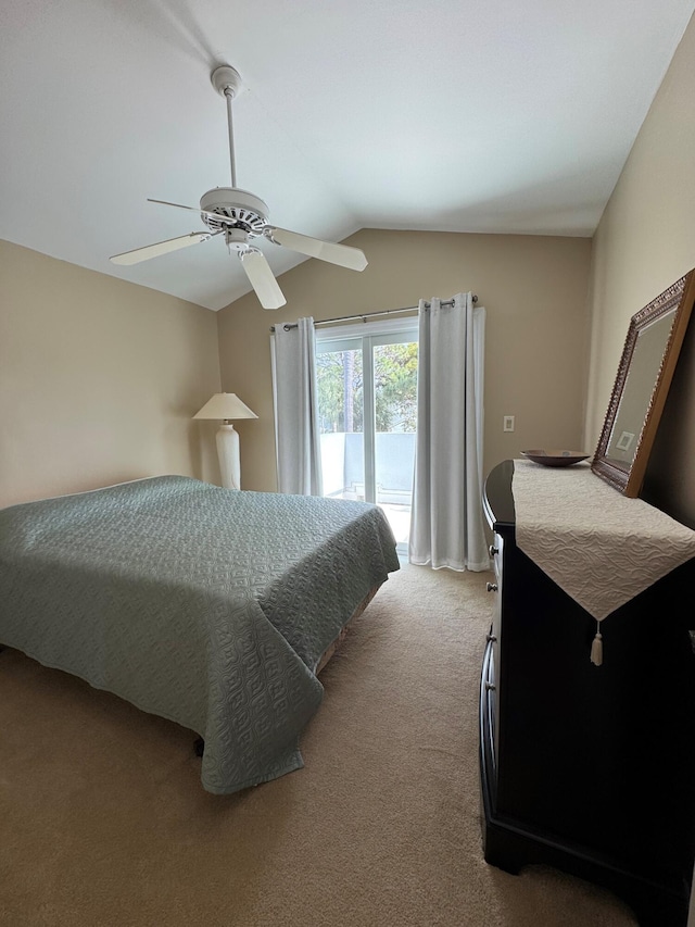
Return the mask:
[[[691, 22], [594, 237], [585, 444], [595, 444], [630, 317], [695, 267], [695, 22]], [[695, 526], [695, 323], [644, 496]]]

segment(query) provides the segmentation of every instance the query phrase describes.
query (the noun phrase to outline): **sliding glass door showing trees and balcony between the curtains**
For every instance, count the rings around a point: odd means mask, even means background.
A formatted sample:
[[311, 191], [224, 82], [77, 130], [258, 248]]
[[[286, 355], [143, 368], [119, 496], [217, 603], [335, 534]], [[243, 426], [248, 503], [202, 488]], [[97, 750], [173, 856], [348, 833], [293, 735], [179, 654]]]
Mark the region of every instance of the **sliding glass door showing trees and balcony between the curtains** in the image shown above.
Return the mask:
[[417, 327], [317, 331], [324, 494], [380, 505], [407, 552], [417, 422]]

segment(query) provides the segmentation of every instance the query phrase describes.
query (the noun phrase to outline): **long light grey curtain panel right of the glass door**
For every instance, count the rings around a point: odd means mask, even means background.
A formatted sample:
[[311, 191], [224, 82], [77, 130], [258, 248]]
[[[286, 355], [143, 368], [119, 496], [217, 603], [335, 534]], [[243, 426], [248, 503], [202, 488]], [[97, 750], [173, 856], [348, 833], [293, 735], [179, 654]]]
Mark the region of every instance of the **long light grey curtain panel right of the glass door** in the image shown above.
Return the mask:
[[482, 515], [485, 310], [420, 301], [417, 447], [409, 559], [434, 569], [489, 569]]

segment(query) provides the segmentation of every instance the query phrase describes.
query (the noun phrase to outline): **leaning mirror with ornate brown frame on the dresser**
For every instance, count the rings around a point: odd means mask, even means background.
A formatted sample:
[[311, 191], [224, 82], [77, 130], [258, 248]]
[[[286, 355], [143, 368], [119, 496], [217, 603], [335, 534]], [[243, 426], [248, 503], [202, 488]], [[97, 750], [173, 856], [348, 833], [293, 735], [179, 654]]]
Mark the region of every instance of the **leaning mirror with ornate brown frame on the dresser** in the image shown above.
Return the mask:
[[630, 320], [591, 468], [624, 496], [639, 494], [695, 300], [695, 271]]

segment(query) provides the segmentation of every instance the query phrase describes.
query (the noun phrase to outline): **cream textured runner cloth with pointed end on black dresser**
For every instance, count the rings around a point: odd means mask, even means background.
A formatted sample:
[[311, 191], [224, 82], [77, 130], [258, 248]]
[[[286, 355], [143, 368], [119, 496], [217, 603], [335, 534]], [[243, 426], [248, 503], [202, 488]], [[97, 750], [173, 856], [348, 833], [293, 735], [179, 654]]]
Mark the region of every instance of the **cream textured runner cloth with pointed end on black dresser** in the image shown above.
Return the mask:
[[695, 531], [587, 463], [515, 460], [511, 489], [517, 547], [598, 622], [695, 556]]

